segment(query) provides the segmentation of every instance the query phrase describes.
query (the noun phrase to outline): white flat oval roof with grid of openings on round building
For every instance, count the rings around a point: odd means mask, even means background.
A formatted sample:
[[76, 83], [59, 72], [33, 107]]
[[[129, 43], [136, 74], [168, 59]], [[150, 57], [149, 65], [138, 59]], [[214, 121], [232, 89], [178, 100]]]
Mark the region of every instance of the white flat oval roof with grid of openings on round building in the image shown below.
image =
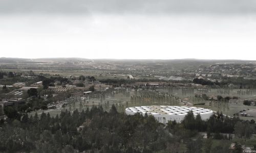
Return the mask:
[[186, 115], [189, 111], [193, 111], [195, 115], [212, 113], [209, 109], [187, 106], [136, 106], [126, 108], [125, 111], [161, 115]]

